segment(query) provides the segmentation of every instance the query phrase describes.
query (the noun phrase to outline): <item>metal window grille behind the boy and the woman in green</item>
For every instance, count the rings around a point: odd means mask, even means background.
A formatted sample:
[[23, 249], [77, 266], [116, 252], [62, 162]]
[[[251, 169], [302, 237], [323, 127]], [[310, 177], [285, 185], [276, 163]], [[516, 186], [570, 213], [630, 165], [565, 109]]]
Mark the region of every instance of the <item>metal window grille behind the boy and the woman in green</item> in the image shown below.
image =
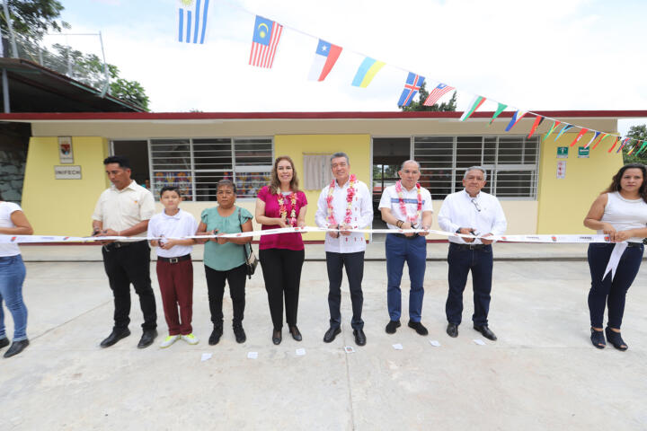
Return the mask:
[[219, 180], [232, 180], [238, 198], [255, 198], [270, 183], [270, 137], [149, 139], [151, 188], [173, 185], [185, 200], [215, 201]]

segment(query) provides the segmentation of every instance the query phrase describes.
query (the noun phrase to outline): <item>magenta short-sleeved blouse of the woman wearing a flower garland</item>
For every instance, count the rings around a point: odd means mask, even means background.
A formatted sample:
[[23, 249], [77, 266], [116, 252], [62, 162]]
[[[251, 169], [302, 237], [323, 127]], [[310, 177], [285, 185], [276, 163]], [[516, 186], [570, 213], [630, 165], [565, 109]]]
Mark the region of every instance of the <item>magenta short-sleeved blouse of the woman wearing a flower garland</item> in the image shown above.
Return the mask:
[[[279, 218], [280, 217], [280, 206], [279, 206], [279, 195], [271, 194], [270, 188], [265, 186], [259, 191], [258, 198], [265, 202], [265, 216], [270, 218]], [[286, 210], [288, 214], [292, 212], [292, 207], [289, 199], [286, 200]], [[296, 211], [295, 214], [298, 217], [301, 208], [306, 207], [307, 199], [306, 193], [303, 191], [297, 191], [297, 202], [296, 202]], [[263, 224], [261, 229], [263, 231], [268, 229], [278, 229], [279, 224], [275, 225], [266, 225]], [[261, 242], [259, 244], [259, 250], [266, 249], [287, 249], [287, 250], [304, 250], [303, 239], [301, 238], [301, 233], [280, 233], [276, 235], [263, 235], [261, 236]]]

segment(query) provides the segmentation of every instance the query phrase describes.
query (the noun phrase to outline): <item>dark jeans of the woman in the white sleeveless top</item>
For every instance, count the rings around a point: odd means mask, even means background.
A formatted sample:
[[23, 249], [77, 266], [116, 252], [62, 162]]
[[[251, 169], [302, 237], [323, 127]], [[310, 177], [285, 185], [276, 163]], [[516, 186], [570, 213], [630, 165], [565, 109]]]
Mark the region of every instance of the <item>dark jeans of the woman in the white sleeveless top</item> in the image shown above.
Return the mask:
[[625, 296], [629, 286], [634, 283], [638, 269], [643, 261], [644, 247], [627, 247], [616, 269], [616, 277], [611, 280], [611, 272], [602, 279], [608, 259], [616, 244], [594, 242], [589, 244], [589, 269], [591, 288], [589, 290], [589, 313], [591, 326], [602, 328], [605, 305], [608, 309], [607, 326], [620, 329], [625, 314]]

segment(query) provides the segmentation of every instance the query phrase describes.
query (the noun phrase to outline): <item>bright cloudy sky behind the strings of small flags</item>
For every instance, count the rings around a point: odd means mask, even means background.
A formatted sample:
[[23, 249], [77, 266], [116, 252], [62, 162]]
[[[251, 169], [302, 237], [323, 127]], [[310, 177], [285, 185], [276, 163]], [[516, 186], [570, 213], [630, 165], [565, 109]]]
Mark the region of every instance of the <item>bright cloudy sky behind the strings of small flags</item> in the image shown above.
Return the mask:
[[[398, 110], [409, 71], [456, 87], [458, 110], [476, 94], [481, 110], [647, 109], [640, 0], [210, 0], [203, 45], [177, 41], [179, 0], [61, 3], [67, 32], [101, 31], [106, 60], [157, 112]], [[248, 65], [255, 14], [285, 26], [271, 69]], [[318, 39], [343, 48], [323, 82], [307, 80]], [[352, 87], [366, 56], [386, 66]]]

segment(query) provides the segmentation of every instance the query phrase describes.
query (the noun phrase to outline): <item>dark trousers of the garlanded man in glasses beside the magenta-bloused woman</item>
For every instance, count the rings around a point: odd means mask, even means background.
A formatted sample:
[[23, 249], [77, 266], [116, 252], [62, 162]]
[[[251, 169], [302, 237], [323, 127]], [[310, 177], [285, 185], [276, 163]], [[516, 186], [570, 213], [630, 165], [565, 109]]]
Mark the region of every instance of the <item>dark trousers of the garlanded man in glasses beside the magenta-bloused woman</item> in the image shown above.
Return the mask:
[[346, 277], [350, 286], [350, 302], [353, 316], [350, 326], [353, 330], [364, 329], [361, 319], [361, 309], [364, 294], [361, 291], [361, 281], [364, 277], [364, 251], [356, 253], [334, 253], [326, 251], [326, 268], [328, 268], [328, 308], [331, 312], [331, 328], [341, 325], [341, 269], [346, 267]]

